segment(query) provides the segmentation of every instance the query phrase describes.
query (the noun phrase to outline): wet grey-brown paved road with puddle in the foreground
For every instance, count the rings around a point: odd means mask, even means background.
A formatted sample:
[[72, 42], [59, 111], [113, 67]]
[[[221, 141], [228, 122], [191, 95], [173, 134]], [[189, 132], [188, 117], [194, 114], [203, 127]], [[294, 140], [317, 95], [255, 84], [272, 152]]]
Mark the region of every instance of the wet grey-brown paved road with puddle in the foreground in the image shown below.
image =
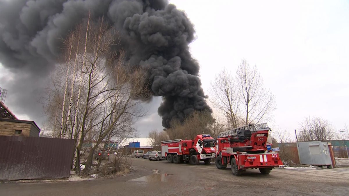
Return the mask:
[[[133, 159], [135, 171], [116, 179], [60, 183], [3, 183], [0, 195], [349, 195], [349, 168], [257, 169], [234, 176], [230, 168]], [[155, 172], [155, 174], [153, 174]]]

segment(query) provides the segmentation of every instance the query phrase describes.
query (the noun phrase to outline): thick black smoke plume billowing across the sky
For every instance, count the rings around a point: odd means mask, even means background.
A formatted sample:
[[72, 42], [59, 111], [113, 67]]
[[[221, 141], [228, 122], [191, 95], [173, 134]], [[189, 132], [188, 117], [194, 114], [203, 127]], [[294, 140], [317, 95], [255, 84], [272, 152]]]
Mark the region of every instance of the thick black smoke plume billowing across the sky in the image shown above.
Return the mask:
[[12, 104], [37, 115], [33, 103], [61, 52], [60, 39], [89, 11], [119, 30], [130, 65], [148, 71], [149, 90], [163, 97], [158, 113], [165, 128], [194, 110], [211, 111], [189, 52], [193, 24], [163, 0], [0, 0], [0, 62], [16, 73], [10, 91], [21, 95]]

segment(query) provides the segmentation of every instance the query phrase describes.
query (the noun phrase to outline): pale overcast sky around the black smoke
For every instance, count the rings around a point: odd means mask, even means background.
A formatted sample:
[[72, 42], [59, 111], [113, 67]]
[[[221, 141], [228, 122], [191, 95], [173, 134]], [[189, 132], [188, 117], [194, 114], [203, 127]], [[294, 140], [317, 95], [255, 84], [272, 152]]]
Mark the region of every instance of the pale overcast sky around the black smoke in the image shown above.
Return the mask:
[[[256, 65], [276, 96], [275, 125], [293, 133], [305, 116], [320, 116], [338, 129], [349, 125], [348, 1], [172, 0], [196, 29], [190, 45], [200, 62], [206, 93], [224, 67], [235, 73], [242, 58]], [[0, 65], [3, 84], [15, 76]], [[0, 87], [6, 88], [0, 83]], [[8, 89], [8, 99], [11, 91]], [[139, 136], [162, 129], [157, 97], [137, 123]], [[6, 104], [6, 101], [5, 101]], [[8, 105], [21, 119], [15, 105]]]

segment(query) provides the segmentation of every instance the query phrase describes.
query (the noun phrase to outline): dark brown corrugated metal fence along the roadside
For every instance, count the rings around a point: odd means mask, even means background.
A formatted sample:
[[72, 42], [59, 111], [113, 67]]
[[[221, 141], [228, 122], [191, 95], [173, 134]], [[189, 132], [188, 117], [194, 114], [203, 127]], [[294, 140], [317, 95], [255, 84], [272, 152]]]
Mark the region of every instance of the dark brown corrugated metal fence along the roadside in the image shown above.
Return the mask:
[[0, 136], [0, 180], [67, 178], [74, 140]]

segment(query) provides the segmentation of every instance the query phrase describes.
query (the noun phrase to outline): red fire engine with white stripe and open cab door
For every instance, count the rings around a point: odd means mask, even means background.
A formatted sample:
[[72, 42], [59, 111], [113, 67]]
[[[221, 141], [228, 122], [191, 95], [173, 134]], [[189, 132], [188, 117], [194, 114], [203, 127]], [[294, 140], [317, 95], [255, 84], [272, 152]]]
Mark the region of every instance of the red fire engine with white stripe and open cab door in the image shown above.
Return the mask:
[[197, 135], [194, 140], [168, 140], [161, 142], [161, 153], [168, 163], [190, 163], [198, 165], [202, 160], [209, 164], [215, 158], [215, 139], [210, 135]]

